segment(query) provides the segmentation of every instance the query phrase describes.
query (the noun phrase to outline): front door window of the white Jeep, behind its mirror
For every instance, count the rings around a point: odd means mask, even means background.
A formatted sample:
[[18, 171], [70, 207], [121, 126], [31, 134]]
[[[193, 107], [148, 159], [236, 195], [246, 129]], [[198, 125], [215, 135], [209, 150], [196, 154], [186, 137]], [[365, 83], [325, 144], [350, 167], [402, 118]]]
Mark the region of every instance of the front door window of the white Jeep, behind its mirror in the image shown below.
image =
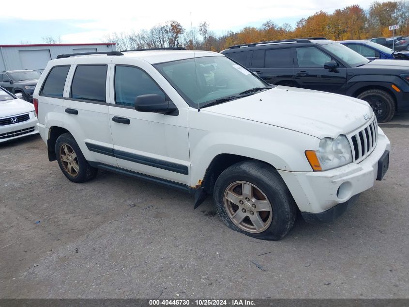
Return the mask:
[[139, 95], [165, 94], [152, 78], [142, 69], [131, 66], [115, 66], [115, 103], [134, 106]]

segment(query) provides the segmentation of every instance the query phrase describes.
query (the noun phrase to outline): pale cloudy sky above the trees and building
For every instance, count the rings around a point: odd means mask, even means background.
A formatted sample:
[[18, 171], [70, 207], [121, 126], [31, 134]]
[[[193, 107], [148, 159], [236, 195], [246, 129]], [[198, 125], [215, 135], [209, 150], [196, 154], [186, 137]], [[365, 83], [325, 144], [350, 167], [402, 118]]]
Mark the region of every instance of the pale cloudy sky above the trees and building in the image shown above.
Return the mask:
[[[138, 32], [167, 20], [185, 29], [207, 21], [216, 34], [259, 27], [271, 19], [276, 24], [295, 23], [319, 10], [359, 3], [364, 9], [373, 0], [19, 0], [1, 4], [0, 45], [44, 43], [42, 37], [60, 36], [61, 43], [100, 43], [111, 32]], [[383, 1], [381, 1], [383, 2]]]

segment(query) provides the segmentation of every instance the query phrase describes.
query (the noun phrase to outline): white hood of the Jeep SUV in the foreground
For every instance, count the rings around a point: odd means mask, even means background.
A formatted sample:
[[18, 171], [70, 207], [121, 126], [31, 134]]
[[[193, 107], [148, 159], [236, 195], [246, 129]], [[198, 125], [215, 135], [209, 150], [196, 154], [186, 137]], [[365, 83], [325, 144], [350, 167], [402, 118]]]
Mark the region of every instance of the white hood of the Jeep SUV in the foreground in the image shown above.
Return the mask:
[[368, 103], [360, 99], [287, 86], [202, 110], [291, 129], [319, 139], [347, 134], [374, 114]]

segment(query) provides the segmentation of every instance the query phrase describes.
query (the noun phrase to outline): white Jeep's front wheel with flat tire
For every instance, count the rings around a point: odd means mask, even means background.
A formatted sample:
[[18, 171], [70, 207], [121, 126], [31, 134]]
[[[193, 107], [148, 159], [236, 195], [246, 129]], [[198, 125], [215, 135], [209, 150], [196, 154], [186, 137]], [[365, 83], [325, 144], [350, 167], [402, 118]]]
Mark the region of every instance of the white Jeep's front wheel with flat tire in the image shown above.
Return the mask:
[[[245, 190], [250, 191], [248, 198]], [[277, 171], [263, 162], [245, 161], [228, 167], [216, 180], [213, 198], [223, 222], [247, 236], [280, 240], [294, 225], [294, 199]], [[233, 218], [241, 222], [233, 222]]]

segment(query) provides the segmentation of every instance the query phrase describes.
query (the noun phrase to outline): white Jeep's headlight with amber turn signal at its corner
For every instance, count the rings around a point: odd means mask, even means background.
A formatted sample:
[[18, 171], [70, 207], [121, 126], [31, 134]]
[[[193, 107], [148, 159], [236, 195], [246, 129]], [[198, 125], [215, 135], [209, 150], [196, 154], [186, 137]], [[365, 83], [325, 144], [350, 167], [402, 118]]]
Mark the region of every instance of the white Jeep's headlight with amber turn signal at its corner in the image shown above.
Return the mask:
[[352, 162], [351, 145], [345, 135], [336, 139], [323, 138], [318, 151], [306, 150], [305, 155], [314, 171], [326, 171]]

